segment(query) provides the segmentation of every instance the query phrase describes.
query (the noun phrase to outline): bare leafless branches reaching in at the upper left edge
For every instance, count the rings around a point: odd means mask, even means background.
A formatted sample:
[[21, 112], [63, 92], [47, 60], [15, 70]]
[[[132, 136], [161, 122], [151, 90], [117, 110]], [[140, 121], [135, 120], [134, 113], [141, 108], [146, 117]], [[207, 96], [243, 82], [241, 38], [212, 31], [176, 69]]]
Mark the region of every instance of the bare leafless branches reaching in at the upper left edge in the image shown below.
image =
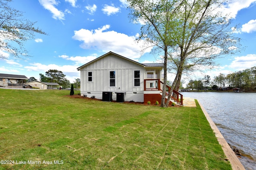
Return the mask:
[[[34, 39], [34, 33], [46, 33], [34, 27], [36, 22], [24, 19], [22, 12], [8, 6], [8, 2], [12, 0], [0, 0], [0, 51], [16, 58], [29, 57], [24, 41]], [[6, 56], [0, 53], [0, 58]]]

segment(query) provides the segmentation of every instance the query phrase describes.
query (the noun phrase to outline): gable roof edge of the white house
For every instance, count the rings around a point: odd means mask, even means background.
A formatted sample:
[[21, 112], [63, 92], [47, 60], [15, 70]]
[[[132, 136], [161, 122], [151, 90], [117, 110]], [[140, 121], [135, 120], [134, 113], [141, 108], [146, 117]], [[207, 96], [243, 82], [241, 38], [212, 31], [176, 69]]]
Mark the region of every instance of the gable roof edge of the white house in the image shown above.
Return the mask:
[[104, 55], [98, 57], [97, 59], [94, 59], [94, 60], [92, 60], [92, 61], [90, 61], [90, 62], [88, 62], [88, 63], [86, 63], [86, 64], [84, 64], [84, 65], [82, 65], [82, 66], [80, 66], [80, 67], [78, 67], [78, 68], [76, 68], [76, 69], [77, 69], [77, 70], [80, 70], [82, 67], [84, 67], [84, 66], [86, 66], [86, 65], [88, 65], [88, 64], [91, 64], [91, 63], [93, 63], [93, 62], [95, 62], [95, 61], [98, 61], [98, 60], [100, 60], [101, 58], [106, 57], [106, 56], [109, 55], [109, 54], [114, 54], [114, 55], [116, 55], [116, 56], [118, 56], [118, 57], [121, 57], [121, 58], [123, 58], [123, 59], [126, 59], [126, 60], [128, 60], [128, 61], [131, 61], [131, 62], [133, 62], [133, 63], [139, 64], [139, 65], [144, 66], [144, 67], [164, 67], [164, 64], [163, 64], [163, 63], [148, 63], [148, 64], [142, 64], [142, 63], [138, 63], [138, 62], [136, 62], [136, 61], [133, 61], [133, 60], [128, 59], [128, 58], [126, 58], [126, 57], [124, 57], [124, 56], [122, 56], [122, 55], [119, 55], [119, 54], [116, 54], [116, 53], [113, 53], [112, 51], [110, 51], [110, 52], [108, 52], [108, 53], [106, 53], [106, 54], [104, 54]]

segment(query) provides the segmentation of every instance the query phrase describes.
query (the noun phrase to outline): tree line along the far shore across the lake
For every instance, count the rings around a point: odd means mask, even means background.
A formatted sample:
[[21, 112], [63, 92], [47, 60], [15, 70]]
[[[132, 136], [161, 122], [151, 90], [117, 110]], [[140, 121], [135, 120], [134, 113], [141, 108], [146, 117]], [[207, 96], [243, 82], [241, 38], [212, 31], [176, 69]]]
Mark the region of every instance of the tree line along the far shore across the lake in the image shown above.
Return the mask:
[[240, 88], [246, 91], [256, 90], [256, 66], [247, 68], [245, 70], [240, 70], [237, 72], [232, 72], [230, 74], [220, 73], [218, 76], [214, 76], [212, 81], [210, 81], [210, 76], [204, 76], [199, 80], [190, 80], [187, 84], [187, 88], [204, 90], [213, 89], [218, 87], [229, 86], [230, 88]]

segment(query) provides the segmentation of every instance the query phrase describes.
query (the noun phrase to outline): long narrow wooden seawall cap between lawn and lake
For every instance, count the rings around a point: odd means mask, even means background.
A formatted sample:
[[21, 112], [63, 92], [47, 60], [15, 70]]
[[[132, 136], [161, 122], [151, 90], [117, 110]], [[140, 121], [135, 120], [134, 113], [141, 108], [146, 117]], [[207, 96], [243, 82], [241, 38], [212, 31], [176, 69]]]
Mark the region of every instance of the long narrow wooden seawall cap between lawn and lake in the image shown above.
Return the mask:
[[219, 129], [216, 127], [216, 125], [214, 124], [214, 122], [212, 121], [210, 116], [208, 115], [207, 111], [204, 109], [204, 107], [202, 106], [202, 104], [200, 104], [199, 101], [198, 101], [198, 103], [201, 106], [206, 119], [210, 123], [210, 126], [211, 126], [212, 130], [214, 131], [215, 136], [217, 137], [217, 140], [220, 143], [220, 145], [224, 151], [224, 154], [226, 155], [227, 159], [229, 160], [229, 162], [232, 166], [232, 170], [245, 170], [244, 166], [242, 165], [242, 163], [240, 162], [240, 160], [238, 159], [238, 157], [236, 156], [234, 151], [230, 148], [230, 146], [228, 145], [228, 143], [226, 142], [226, 140], [220, 133]]

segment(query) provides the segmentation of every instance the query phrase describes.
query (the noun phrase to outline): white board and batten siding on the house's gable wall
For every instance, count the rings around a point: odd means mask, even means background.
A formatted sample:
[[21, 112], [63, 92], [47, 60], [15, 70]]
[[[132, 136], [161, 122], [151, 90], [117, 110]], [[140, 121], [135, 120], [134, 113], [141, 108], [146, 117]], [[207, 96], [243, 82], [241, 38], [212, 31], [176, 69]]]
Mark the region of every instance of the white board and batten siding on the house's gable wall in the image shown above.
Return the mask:
[[[135, 70], [140, 70], [140, 86], [134, 86]], [[115, 71], [114, 87], [110, 86], [110, 71]], [[92, 72], [92, 82], [88, 81], [88, 72]], [[115, 100], [116, 92], [124, 92], [125, 101], [143, 102], [144, 74], [144, 66], [108, 55], [81, 68], [81, 95], [102, 99], [102, 92], [113, 92]]]

